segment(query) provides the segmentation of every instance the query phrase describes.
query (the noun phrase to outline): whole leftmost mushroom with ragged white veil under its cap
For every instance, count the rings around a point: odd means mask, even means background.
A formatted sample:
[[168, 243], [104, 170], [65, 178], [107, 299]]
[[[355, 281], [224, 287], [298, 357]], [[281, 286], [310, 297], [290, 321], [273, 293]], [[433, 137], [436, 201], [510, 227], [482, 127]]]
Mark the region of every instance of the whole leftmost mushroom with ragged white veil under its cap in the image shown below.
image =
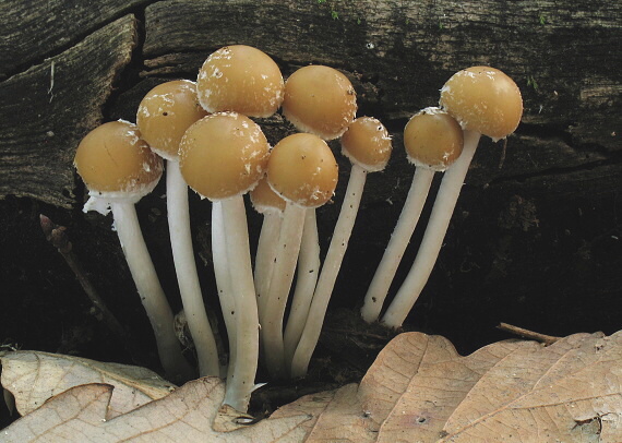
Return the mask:
[[134, 204], [149, 193], [163, 172], [163, 161], [128, 121], [111, 121], [91, 131], [77, 146], [77, 173], [91, 196], [84, 211], [112, 211], [115, 228], [130, 273], [154, 330], [159, 359], [172, 380], [189, 380], [194, 371], [181, 354], [174, 315], [147, 251]]

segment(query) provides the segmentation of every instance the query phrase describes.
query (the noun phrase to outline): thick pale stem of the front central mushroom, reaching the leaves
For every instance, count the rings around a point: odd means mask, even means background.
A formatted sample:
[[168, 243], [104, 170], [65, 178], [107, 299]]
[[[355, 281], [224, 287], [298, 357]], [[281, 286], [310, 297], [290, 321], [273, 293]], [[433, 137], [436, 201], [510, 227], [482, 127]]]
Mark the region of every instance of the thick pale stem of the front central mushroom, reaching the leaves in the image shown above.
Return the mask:
[[227, 261], [236, 306], [235, 366], [227, 381], [224, 403], [246, 412], [259, 360], [259, 318], [249, 249], [247, 213], [241, 195], [223, 200]]

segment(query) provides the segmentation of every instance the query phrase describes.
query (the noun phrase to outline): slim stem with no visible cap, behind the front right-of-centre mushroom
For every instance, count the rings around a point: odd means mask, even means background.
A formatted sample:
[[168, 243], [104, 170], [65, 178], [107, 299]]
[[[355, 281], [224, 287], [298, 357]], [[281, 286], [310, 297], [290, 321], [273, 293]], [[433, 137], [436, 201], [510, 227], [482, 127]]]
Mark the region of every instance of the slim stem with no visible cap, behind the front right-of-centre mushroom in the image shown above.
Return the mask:
[[291, 364], [294, 352], [302, 335], [304, 322], [309, 314], [309, 307], [315, 291], [318, 274], [320, 272], [320, 242], [318, 236], [318, 222], [315, 209], [307, 209], [304, 216], [304, 227], [302, 229], [302, 241], [300, 243], [300, 254], [298, 255], [298, 273], [296, 278], [296, 289], [291, 298], [291, 308], [285, 326], [284, 346], [285, 363]]

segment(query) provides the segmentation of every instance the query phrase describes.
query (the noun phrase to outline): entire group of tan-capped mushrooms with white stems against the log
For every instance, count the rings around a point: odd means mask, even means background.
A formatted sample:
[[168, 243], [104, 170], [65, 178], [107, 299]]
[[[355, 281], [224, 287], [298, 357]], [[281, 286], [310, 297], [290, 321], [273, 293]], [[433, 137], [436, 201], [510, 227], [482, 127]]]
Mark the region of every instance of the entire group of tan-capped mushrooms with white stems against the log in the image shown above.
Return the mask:
[[[433, 175], [446, 169], [419, 254], [382, 323], [400, 326], [415, 303], [439, 253], [479, 135], [504, 137], [518, 124], [519, 92], [509, 82], [491, 68], [460, 71], [443, 87], [440, 108], [423, 109], [406, 125], [404, 143], [417, 170], [366, 297], [361, 310], [366, 321], [380, 319]], [[469, 107], [469, 100], [475, 105]], [[272, 147], [258, 119], [279, 108], [298, 132]], [[265, 52], [234, 45], [213, 52], [196, 82], [170, 81], [148, 92], [137, 108], [136, 124], [108, 122], [84, 137], [75, 155], [91, 195], [84, 211], [112, 212], [168, 376], [188, 380], [195, 372], [172, 332], [174, 315], [142, 238], [134, 203], [155, 188], [166, 166], [174, 263], [198, 374], [226, 378], [224, 403], [246, 411], [258, 386], [260, 361], [272, 379], [307, 373], [367, 173], [381, 171], [392, 153], [386, 128], [375, 118], [356, 113], [355, 88], [342, 72], [308, 65], [284, 81]], [[315, 209], [335, 193], [338, 166], [327, 142], [337, 139], [351, 170], [322, 263]], [[202, 271], [192, 250], [189, 188], [212, 203], [213, 275], [229, 340], [228, 359], [218, 355], [216, 325], [210, 324], [199, 285]], [[246, 193], [263, 215], [254, 260]], [[228, 363], [222, 367], [220, 361]]]

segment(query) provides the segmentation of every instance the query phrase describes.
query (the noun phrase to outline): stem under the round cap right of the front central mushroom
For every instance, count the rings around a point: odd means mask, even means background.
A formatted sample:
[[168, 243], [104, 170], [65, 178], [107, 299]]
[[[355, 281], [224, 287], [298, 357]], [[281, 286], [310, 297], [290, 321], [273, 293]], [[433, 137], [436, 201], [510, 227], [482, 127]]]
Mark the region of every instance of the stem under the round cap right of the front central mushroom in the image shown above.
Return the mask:
[[270, 284], [265, 315], [261, 324], [264, 361], [274, 379], [284, 379], [287, 375], [283, 343], [283, 316], [300, 252], [307, 211], [307, 208], [289, 202], [285, 206], [276, 262]]

